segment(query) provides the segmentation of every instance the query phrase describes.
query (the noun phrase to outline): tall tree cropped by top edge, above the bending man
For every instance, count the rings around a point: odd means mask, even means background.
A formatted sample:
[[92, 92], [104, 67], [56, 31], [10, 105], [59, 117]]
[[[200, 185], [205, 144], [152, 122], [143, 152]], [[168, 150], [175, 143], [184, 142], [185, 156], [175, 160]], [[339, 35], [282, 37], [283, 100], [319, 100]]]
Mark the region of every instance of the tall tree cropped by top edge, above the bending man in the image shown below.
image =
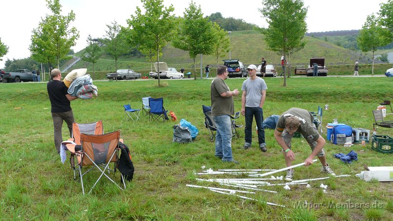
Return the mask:
[[[261, 31], [268, 49], [284, 55], [285, 60], [290, 49], [304, 44], [302, 39], [307, 31], [307, 8], [302, 0], [265, 0], [264, 7], [259, 11], [269, 24]], [[283, 86], [286, 86], [285, 73]]]

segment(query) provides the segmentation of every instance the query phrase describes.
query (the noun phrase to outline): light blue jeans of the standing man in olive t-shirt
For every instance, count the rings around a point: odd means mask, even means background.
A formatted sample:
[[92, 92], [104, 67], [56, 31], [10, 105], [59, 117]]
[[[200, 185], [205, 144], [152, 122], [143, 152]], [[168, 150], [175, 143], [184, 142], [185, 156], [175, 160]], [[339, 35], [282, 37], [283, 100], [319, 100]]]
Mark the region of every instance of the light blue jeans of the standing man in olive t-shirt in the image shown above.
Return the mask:
[[230, 117], [227, 114], [212, 116], [217, 126], [216, 153], [217, 157], [223, 157], [223, 161], [232, 161], [232, 131]]

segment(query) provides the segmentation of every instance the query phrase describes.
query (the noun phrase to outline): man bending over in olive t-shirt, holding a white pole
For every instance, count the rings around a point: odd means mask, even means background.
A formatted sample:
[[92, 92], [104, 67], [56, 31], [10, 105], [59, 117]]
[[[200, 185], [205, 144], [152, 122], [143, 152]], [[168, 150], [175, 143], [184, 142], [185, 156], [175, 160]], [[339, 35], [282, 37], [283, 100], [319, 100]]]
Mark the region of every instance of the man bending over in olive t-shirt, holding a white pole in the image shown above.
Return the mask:
[[[295, 154], [291, 149], [291, 139], [295, 132], [301, 133], [306, 138], [312, 150], [309, 157], [305, 160], [305, 166], [311, 165], [313, 158], [318, 156], [322, 164], [321, 172], [335, 176], [336, 174], [326, 163], [325, 151], [323, 149], [326, 141], [319, 135], [313, 121], [314, 116], [309, 111], [300, 108], [291, 108], [280, 116], [276, 125], [276, 131], [274, 132], [274, 138], [276, 138], [282, 147], [285, 164], [288, 167], [295, 160]], [[291, 181], [292, 177], [293, 169], [288, 169], [285, 180]]]

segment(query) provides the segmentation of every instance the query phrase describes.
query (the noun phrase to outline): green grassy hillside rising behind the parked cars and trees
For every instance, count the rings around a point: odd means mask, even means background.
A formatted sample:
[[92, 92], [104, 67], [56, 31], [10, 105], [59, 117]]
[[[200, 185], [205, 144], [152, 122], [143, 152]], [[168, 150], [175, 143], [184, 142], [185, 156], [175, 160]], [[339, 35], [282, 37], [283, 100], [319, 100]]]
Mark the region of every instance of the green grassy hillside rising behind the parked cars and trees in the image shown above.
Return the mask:
[[[361, 60], [360, 63], [367, 63], [368, 57], [363, 58], [360, 54], [350, 51], [348, 49], [339, 47], [335, 44], [325, 42], [321, 39], [305, 37], [306, 47], [290, 56], [289, 61], [291, 65], [307, 65], [311, 57], [325, 57], [326, 65], [340, 65], [340, 64], [354, 64], [356, 60]], [[245, 65], [258, 64], [260, 58], [263, 56], [268, 63], [279, 64], [281, 55], [267, 49], [264, 36], [255, 30], [233, 31], [230, 35], [231, 43], [231, 58], [236, 58], [242, 61]], [[83, 51], [76, 55], [83, 54]], [[222, 64], [221, 59], [229, 58], [228, 56], [221, 57], [219, 64]], [[363, 60], [362, 60], [363, 59]], [[193, 61], [189, 57], [188, 52], [182, 51], [172, 47], [168, 44], [163, 49], [163, 56], [161, 61], [167, 62], [168, 66], [180, 69], [184, 67], [186, 70], [193, 68]], [[197, 56], [197, 68], [200, 66], [200, 58]], [[202, 65], [217, 64], [216, 58], [213, 55], [203, 55]], [[78, 62], [74, 68], [86, 67], [92, 70], [92, 64], [84, 61]], [[144, 57], [130, 57], [123, 56], [118, 61], [118, 68], [131, 68], [141, 73], [148, 73], [151, 64], [146, 61]], [[111, 72], [114, 71], [114, 60], [110, 57], [103, 57], [95, 64], [96, 71]]]

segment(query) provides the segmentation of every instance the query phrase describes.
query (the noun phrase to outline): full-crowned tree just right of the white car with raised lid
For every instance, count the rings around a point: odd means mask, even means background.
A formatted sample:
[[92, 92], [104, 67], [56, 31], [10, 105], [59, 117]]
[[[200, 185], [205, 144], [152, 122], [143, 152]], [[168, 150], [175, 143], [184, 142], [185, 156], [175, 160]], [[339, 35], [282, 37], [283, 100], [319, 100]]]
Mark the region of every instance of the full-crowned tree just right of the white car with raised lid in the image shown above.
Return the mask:
[[208, 18], [203, 18], [200, 5], [197, 7], [194, 1], [190, 2], [183, 14], [179, 33], [172, 44], [175, 48], [188, 51], [190, 58], [194, 60], [194, 79], [197, 79], [195, 58], [199, 54], [213, 54], [212, 46], [217, 42], [217, 35], [213, 24]]

